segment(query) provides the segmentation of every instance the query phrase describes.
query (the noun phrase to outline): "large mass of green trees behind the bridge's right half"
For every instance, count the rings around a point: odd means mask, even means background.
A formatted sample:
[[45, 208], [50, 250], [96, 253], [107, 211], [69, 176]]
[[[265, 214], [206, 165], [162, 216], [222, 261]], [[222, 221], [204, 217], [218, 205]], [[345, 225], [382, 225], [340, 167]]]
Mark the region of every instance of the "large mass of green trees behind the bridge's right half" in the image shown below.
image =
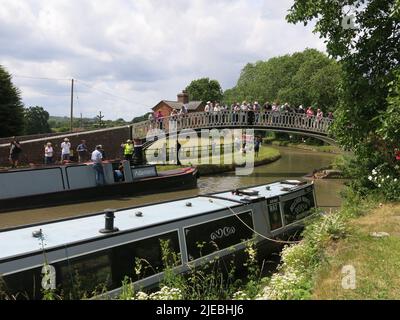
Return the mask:
[[292, 55], [248, 63], [224, 101], [270, 101], [334, 110], [338, 101], [340, 66], [322, 52], [306, 49]]

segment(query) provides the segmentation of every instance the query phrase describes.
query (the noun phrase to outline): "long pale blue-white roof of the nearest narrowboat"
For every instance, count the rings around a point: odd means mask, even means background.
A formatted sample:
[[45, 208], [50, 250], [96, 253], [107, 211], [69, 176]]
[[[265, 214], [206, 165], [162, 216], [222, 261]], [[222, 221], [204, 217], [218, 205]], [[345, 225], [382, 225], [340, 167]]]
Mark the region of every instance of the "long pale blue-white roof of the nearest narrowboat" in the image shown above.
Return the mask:
[[[297, 183], [295, 181], [297, 180], [288, 181], [288, 183], [276, 182], [240, 190], [258, 191], [258, 195], [253, 196], [253, 198], [270, 198], [298, 188], [300, 181], [297, 181]], [[267, 186], [269, 190], [267, 190]], [[242, 204], [246, 197], [248, 196], [243, 194], [235, 195], [232, 194], [232, 191], [228, 191], [121, 209], [115, 212], [114, 226], [119, 228], [119, 231], [134, 231], [221, 210], [226, 207], [234, 207]], [[191, 206], [187, 206], [189, 202]], [[142, 216], [137, 216], [137, 212], [141, 212]], [[104, 212], [102, 212], [84, 217], [43, 222], [42, 224], [21, 226], [4, 231], [0, 230], [0, 260], [41, 251], [42, 243], [40, 239], [35, 238], [32, 234], [40, 229], [42, 229], [46, 250], [65, 244], [104, 237], [105, 235], [99, 232], [100, 229], [104, 228], [104, 221]]]

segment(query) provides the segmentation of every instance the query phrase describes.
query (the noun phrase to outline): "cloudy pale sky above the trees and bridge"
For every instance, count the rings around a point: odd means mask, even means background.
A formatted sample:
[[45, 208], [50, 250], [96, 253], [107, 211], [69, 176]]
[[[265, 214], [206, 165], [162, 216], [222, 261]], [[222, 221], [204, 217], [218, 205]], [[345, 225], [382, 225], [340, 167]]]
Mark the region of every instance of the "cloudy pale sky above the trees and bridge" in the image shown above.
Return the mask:
[[[293, 0], [2, 0], [0, 65], [26, 107], [104, 119], [140, 116], [192, 80], [235, 86], [249, 62], [316, 48]], [[36, 79], [42, 78], [42, 79]]]

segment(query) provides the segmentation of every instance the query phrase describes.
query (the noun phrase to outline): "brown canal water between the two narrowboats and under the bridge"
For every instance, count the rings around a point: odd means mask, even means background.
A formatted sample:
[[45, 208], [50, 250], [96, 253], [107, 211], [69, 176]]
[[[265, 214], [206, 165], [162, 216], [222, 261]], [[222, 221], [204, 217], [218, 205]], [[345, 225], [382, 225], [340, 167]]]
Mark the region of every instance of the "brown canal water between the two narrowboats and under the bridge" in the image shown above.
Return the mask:
[[[234, 172], [222, 173], [200, 177], [197, 189], [145, 196], [115, 197], [111, 200], [97, 200], [50, 208], [2, 213], [0, 214], [0, 228], [100, 212], [106, 208], [120, 209], [147, 203], [173, 200], [209, 192], [269, 183], [282, 179], [299, 179], [312, 172], [314, 169], [328, 166], [335, 157], [334, 154], [295, 148], [277, 147], [277, 149], [281, 152], [281, 159], [274, 163], [254, 168], [253, 173], [249, 176], [236, 176]], [[341, 200], [339, 192], [343, 187], [343, 183], [344, 181], [340, 179], [315, 180], [317, 205], [333, 208], [340, 206]]]

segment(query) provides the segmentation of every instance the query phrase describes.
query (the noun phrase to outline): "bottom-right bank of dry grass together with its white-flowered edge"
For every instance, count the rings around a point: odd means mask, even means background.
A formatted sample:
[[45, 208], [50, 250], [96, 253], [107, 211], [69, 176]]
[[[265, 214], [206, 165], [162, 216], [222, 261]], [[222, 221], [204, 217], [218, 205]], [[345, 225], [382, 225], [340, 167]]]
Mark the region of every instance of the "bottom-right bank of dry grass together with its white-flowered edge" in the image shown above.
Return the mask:
[[399, 299], [400, 204], [347, 197], [338, 212], [314, 218], [303, 240], [281, 255], [264, 299]]

